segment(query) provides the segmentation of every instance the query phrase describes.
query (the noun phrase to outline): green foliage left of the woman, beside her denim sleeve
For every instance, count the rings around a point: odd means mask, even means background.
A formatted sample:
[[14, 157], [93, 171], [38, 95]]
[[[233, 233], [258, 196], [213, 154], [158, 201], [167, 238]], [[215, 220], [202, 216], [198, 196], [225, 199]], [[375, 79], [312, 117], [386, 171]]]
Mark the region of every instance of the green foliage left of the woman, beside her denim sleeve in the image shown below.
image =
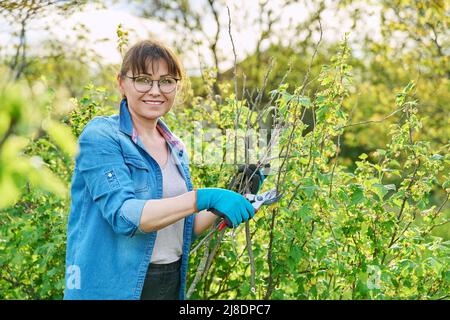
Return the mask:
[[[10, 90], [7, 92], [12, 94]], [[24, 92], [23, 87], [21, 92]], [[22, 116], [29, 121], [22, 126], [31, 127], [30, 123], [39, 119], [36, 118], [38, 114], [26, 112], [29, 105], [25, 103], [26, 96], [2, 97], [4, 106], [16, 107], [16, 111], [22, 110]], [[8, 97], [11, 100], [7, 100]], [[50, 129], [54, 128], [53, 130], [43, 131], [35, 139], [21, 140], [23, 160], [18, 157], [17, 148], [11, 150], [8, 159], [0, 158], [3, 161], [0, 177], [9, 177], [16, 184], [7, 184], [8, 180], [0, 179], [0, 187], [9, 188], [8, 192], [3, 189], [3, 194], [13, 195], [13, 187], [17, 192], [23, 192], [19, 201], [0, 211], [2, 299], [62, 298], [70, 201], [69, 197], [55, 195], [66, 195], [68, 192], [74, 166], [74, 139], [94, 116], [115, 112], [108, 105], [110, 98], [104, 88], [86, 86], [82, 98], [72, 100], [73, 109], [61, 117], [59, 122], [51, 122]], [[6, 103], [8, 101], [11, 103]], [[39, 104], [34, 105], [35, 108], [38, 106]], [[3, 113], [0, 118], [5, 117]], [[22, 122], [25, 120], [21, 120]], [[8, 138], [7, 141], [14, 143], [18, 138]], [[17, 145], [19, 146], [21, 145]], [[5, 147], [1, 150], [1, 154], [8, 151]], [[28, 157], [31, 157], [31, 161]], [[26, 170], [27, 161], [31, 164], [37, 162], [39, 166], [35, 168], [28, 164], [30, 169]], [[8, 165], [4, 165], [5, 163]], [[17, 169], [12, 171], [14, 168]], [[56, 183], [57, 187], [54, 187], [52, 184]], [[55, 195], [43, 192], [38, 187], [45, 187]]]

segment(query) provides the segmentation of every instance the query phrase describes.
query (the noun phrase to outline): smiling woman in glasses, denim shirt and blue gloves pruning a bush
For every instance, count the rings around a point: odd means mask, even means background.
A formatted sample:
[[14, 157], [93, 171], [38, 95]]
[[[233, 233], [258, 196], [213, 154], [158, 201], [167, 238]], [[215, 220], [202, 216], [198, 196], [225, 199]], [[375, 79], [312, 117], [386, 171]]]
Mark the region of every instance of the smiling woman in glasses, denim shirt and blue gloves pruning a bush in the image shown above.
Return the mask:
[[236, 227], [254, 209], [238, 193], [193, 188], [184, 144], [160, 119], [185, 81], [169, 48], [135, 44], [117, 80], [120, 113], [79, 137], [64, 298], [184, 299], [193, 239], [218, 215]]

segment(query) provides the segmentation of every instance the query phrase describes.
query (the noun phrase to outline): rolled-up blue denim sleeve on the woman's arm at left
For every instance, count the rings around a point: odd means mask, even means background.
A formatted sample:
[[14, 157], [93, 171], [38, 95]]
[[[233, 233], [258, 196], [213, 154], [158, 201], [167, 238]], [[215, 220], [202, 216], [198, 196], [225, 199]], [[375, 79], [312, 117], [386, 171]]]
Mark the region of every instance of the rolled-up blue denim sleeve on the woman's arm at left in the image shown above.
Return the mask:
[[76, 169], [102, 216], [117, 234], [141, 233], [139, 223], [147, 200], [136, 199], [117, 132], [106, 119], [94, 118], [78, 141]]

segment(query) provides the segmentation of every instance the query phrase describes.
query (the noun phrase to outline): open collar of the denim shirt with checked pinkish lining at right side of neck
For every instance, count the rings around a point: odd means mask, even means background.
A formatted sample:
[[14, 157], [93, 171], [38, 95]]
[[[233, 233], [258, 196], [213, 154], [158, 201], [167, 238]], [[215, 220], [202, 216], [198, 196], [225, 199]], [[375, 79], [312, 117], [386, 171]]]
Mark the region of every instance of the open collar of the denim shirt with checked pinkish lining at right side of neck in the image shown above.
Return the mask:
[[[131, 121], [131, 114], [128, 110], [126, 99], [122, 99], [120, 102], [119, 128], [120, 131], [129, 135], [133, 139], [134, 143], [137, 142], [137, 132], [133, 127], [133, 121]], [[183, 142], [169, 130], [167, 125], [160, 118], [156, 123], [156, 129], [158, 129], [159, 133], [173, 148], [175, 148], [178, 152], [183, 152], [185, 149]]]

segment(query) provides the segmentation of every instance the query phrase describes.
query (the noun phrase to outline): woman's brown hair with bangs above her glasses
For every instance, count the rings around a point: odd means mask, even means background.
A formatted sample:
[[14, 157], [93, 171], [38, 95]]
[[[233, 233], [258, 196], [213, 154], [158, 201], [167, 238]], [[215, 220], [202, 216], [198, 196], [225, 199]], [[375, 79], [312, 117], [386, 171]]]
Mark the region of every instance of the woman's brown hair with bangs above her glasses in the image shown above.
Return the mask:
[[128, 71], [133, 76], [146, 73], [150, 63], [154, 67], [161, 59], [167, 63], [169, 74], [181, 80], [182, 96], [185, 96], [189, 91], [189, 81], [183, 64], [168, 46], [157, 40], [142, 40], [129, 48], [123, 57], [119, 75], [123, 77]]

